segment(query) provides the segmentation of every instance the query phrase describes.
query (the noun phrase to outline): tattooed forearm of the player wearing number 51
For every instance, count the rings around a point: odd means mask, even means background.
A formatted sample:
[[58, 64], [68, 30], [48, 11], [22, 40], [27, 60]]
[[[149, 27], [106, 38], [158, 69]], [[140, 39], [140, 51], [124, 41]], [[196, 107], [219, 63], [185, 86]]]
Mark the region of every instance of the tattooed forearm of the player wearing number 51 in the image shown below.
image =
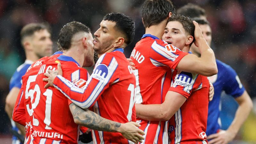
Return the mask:
[[117, 128], [121, 126], [121, 123], [117, 123], [108, 119], [105, 119], [98, 114], [86, 109], [82, 109], [71, 103], [69, 105], [70, 111], [74, 117], [74, 120], [83, 126], [86, 126], [93, 130], [117, 132]]

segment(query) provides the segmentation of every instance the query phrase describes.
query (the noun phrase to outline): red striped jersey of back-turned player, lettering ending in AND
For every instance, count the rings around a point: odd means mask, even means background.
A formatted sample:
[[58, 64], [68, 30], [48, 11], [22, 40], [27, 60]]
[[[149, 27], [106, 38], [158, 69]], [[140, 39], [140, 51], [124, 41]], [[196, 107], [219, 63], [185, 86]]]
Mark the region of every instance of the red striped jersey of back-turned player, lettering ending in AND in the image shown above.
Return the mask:
[[[145, 34], [134, 47], [131, 59], [135, 64], [136, 103], [161, 104], [171, 85], [171, 71], [188, 53], [167, 44], [156, 36]], [[138, 118], [145, 140], [142, 143], [167, 144], [168, 122]]]

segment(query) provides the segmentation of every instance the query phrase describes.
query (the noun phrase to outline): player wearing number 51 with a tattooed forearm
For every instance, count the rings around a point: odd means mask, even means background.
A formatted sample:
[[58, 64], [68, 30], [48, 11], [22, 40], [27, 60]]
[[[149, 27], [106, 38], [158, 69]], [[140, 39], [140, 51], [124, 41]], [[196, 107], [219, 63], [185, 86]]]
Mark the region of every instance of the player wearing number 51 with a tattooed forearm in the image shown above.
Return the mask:
[[[125, 138], [139, 141], [140, 138], [134, 136], [139, 135], [140, 130], [136, 127], [139, 124], [120, 124], [104, 119], [92, 111], [78, 108], [53, 87], [44, 88], [44, 73], [56, 69], [58, 63], [63, 66], [63, 77], [79, 87], [83, 87], [88, 78], [87, 71], [81, 66], [94, 64], [92, 34], [82, 23], [66, 24], [60, 31], [58, 42], [64, 54], [36, 61], [22, 78], [23, 85], [15, 104], [13, 120], [26, 125], [29, 133], [26, 142], [77, 143], [77, 124], [99, 131], [121, 132]], [[24, 111], [25, 120], [20, 118], [20, 113], [24, 116]]]

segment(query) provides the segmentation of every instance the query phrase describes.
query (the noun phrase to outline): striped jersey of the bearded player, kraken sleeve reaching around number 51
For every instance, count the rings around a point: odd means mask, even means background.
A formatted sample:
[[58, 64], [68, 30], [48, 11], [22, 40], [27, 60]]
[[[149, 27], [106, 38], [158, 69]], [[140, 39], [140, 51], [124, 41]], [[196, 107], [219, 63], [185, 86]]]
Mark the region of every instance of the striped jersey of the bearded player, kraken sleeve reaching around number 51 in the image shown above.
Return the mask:
[[[62, 76], [54, 79], [54, 87], [81, 108], [91, 108], [100, 116], [119, 123], [136, 121], [135, 76], [129, 61], [119, 48], [100, 56], [92, 75], [83, 88]], [[121, 133], [92, 130], [94, 143], [129, 143]]]

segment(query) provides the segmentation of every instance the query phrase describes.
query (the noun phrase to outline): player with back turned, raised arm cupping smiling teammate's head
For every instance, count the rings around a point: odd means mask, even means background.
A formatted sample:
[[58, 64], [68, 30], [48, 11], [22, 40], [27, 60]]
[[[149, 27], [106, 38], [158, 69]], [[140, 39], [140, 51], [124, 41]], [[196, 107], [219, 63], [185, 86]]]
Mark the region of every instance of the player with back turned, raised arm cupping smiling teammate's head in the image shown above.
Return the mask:
[[[171, 85], [171, 77], [168, 77], [167, 72], [174, 69], [204, 76], [212, 76], [218, 71], [214, 53], [200, 28], [195, 31], [195, 43], [199, 46], [201, 58], [182, 52], [171, 43], [161, 40], [166, 22], [174, 13], [174, 6], [169, 0], [146, 0], [142, 6], [146, 33], [131, 54], [136, 68], [136, 103], [161, 104]], [[169, 96], [167, 93], [166, 98]], [[143, 143], [168, 143], [168, 122], [144, 119], [138, 119], [138, 122], [141, 124], [140, 129], [146, 133]]]

